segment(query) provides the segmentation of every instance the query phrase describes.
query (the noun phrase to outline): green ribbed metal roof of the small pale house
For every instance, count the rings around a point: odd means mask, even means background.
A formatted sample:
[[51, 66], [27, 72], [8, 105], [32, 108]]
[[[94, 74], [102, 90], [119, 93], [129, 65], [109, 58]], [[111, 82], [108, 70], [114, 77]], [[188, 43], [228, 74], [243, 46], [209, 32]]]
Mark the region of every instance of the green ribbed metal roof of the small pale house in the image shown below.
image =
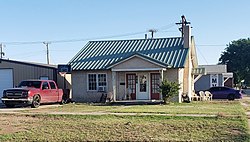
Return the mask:
[[158, 63], [183, 68], [188, 54], [183, 38], [89, 41], [70, 61], [72, 70], [104, 70], [140, 54]]

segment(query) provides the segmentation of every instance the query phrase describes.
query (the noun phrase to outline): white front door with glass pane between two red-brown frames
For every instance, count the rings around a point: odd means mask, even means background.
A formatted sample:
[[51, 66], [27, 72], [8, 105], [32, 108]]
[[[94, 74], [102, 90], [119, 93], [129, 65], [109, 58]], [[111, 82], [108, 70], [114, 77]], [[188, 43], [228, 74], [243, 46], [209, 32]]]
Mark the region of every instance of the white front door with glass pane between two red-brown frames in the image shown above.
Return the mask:
[[149, 99], [149, 76], [148, 73], [138, 74], [138, 87], [137, 87], [137, 100], [148, 100]]

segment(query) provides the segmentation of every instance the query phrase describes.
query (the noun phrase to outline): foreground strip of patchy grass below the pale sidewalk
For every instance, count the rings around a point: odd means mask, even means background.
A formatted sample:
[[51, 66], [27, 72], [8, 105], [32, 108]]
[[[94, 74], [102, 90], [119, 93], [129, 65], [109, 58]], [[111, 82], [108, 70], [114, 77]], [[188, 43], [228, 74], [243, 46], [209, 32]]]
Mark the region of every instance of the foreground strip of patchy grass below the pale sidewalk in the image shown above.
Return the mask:
[[[2, 117], [9, 117], [8, 115]], [[247, 141], [241, 117], [26, 115], [23, 131], [0, 141]]]

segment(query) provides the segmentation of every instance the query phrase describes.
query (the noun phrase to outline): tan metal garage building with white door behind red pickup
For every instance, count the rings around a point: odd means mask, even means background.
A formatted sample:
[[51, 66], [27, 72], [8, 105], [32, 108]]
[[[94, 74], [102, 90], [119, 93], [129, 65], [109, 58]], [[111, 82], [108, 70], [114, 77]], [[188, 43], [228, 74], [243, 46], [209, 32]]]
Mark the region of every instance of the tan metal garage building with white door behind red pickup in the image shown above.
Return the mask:
[[57, 82], [57, 66], [0, 59], [0, 97], [3, 89], [25, 79], [51, 79]]

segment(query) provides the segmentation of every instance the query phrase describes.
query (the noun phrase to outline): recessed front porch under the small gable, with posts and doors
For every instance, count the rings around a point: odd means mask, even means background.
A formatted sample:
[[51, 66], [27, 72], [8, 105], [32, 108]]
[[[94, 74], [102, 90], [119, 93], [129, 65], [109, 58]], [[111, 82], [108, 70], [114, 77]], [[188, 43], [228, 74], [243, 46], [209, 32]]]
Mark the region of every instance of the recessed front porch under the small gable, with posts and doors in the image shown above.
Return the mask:
[[115, 102], [155, 102], [162, 100], [162, 70], [112, 71]]

